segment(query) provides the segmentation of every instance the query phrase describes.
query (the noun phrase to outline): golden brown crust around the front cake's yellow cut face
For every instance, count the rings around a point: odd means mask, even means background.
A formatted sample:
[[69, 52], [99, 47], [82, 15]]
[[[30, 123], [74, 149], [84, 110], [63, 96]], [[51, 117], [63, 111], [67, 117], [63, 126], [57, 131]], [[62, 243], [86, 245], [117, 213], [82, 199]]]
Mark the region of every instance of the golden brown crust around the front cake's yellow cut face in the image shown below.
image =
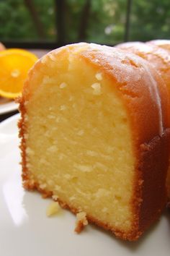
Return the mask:
[[[71, 51], [76, 46], [67, 47]], [[66, 51], [66, 48], [63, 48], [63, 51]], [[53, 54], [58, 54], [58, 52], [61, 53], [62, 48], [54, 51]], [[158, 74], [147, 66], [146, 61], [138, 56], [125, 54], [114, 48], [102, 48], [101, 46], [84, 44], [84, 50], [79, 52], [79, 57], [87, 61], [89, 65], [101, 69], [104, 75], [114, 81], [116, 89], [113, 88], [113, 90], [119, 93], [130, 117], [134, 153], [137, 159], [135, 164], [134, 195], [131, 202], [133, 230], [126, 234], [124, 231], [113, 229], [112, 226], [108, 226], [92, 216], [87, 216], [87, 219], [91, 223], [96, 223], [98, 226], [114, 232], [121, 239], [136, 240], [158, 218], [166, 200], [164, 184], [168, 164], [167, 154], [169, 153], [169, 130], [166, 129], [166, 127], [169, 127], [169, 103], [166, 86]], [[34, 74], [40, 69], [40, 66], [41, 61], [35, 64], [35, 67], [30, 72], [30, 77], [24, 85], [22, 98], [19, 99], [19, 111], [22, 114], [22, 118], [19, 121], [19, 137], [22, 138], [20, 148], [22, 150], [22, 179], [24, 187], [31, 190], [37, 189], [44, 197], [47, 197], [52, 196], [53, 192], [40, 189], [39, 184], [30, 179], [26, 165], [26, 142], [24, 138], [27, 129], [24, 122], [24, 114], [26, 113], [24, 102], [30, 97], [29, 83], [34, 79]], [[146, 76], [145, 80], [143, 76]], [[156, 82], [154, 90], [158, 90], [156, 101], [154, 96], [151, 95], [151, 88], [149, 88], [152, 82], [151, 77]], [[157, 102], [159, 99], [161, 101]], [[158, 103], [161, 104], [159, 108]], [[162, 116], [158, 115], [160, 110]], [[160, 124], [162, 125], [162, 130], [160, 130]], [[154, 183], [155, 180], [156, 183]], [[72, 208], [71, 205], [61, 202], [60, 199], [58, 199], [58, 202], [61, 207], [69, 208], [73, 213], [79, 212]]]

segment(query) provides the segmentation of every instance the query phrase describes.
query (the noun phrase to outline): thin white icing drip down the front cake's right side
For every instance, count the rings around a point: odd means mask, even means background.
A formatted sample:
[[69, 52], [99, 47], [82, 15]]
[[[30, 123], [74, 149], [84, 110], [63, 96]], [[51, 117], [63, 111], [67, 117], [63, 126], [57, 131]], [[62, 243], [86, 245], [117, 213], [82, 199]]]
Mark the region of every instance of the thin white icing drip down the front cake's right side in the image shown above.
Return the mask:
[[156, 101], [157, 106], [158, 106], [158, 117], [159, 117], [159, 135], [162, 135], [164, 132], [164, 127], [163, 127], [163, 116], [162, 116], [162, 109], [161, 109], [161, 98], [158, 92], [158, 87], [156, 85], [156, 81], [153, 79], [150, 70], [148, 69], [147, 65], [143, 63], [143, 67], [145, 67], [146, 72], [149, 76], [149, 79], [151, 82], [149, 83], [148, 89], [151, 93], [151, 97], [153, 98], [153, 101]]

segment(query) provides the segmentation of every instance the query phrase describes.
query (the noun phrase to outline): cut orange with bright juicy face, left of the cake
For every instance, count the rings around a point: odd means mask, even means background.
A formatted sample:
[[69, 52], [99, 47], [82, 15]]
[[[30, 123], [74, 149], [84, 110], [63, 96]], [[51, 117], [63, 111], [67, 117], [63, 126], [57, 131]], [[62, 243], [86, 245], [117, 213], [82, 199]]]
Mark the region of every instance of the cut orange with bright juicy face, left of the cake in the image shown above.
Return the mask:
[[22, 49], [0, 51], [0, 96], [17, 98], [37, 56]]

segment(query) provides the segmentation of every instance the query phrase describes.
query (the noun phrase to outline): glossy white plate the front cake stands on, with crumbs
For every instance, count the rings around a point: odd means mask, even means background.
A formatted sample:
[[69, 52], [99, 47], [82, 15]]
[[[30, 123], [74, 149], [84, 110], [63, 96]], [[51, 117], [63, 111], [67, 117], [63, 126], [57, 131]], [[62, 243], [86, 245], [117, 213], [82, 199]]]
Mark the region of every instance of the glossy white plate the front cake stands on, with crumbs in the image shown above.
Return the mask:
[[122, 242], [89, 225], [74, 234], [75, 216], [67, 210], [51, 218], [51, 200], [22, 188], [17, 120], [0, 124], [0, 255], [1, 256], [168, 256], [170, 215], [165, 213], [139, 242]]

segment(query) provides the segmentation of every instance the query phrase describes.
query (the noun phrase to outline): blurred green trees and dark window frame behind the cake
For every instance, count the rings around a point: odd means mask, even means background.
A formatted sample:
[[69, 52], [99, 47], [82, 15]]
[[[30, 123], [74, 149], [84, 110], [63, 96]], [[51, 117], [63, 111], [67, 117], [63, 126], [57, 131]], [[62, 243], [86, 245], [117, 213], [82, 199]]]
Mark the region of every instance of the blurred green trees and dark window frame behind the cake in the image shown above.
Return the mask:
[[79, 41], [113, 46], [156, 38], [170, 38], [169, 0], [0, 0], [0, 41], [6, 47]]

